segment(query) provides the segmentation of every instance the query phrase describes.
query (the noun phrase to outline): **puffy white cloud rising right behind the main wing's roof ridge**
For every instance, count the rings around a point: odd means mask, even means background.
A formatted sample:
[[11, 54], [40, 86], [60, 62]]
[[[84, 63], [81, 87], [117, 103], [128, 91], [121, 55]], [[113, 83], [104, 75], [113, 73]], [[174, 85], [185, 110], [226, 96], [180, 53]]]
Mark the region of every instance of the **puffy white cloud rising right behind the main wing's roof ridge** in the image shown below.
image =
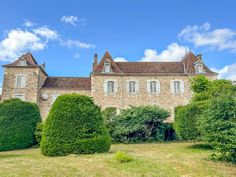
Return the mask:
[[180, 61], [189, 49], [185, 46], [171, 43], [167, 46], [166, 50], [161, 51], [159, 54], [156, 50], [146, 49], [144, 57], [140, 61], [145, 62], [174, 62]]

